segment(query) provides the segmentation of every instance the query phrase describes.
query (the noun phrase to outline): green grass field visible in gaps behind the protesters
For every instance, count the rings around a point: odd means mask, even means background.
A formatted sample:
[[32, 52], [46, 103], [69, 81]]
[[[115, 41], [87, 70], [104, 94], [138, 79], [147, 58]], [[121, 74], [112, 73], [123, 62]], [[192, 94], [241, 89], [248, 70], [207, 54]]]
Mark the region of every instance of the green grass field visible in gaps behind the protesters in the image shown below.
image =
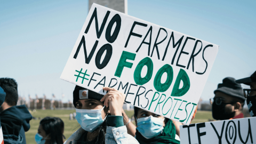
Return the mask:
[[[64, 135], [66, 139], [70, 137], [72, 133], [74, 133], [78, 128], [79, 124], [77, 121], [74, 119], [72, 121], [69, 120], [69, 114], [74, 113], [76, 110], [36, 110], [32, 111], [31, 115], [33, 117], [36, 117], [37, 120], [32, 119], [30, 121], [30, 130], [26, 132], [26, 140], [28, 144], [34, 144], [35, 143], [35, 134], [37, 133], [37, 129], [39, 126], [40, 118], [44, 118], [46, 116], [51, 116], [51, 117], [60, 117], [62, 121], [65, 123], [65, 131]], [[125, 111], [126, 115], [131, 117], [133, 115], [133, 110], [131, 111]], [[212, 113], [211, 111], [197, 111], [195, 119], [191, 123], [202, 123], [202, 122], [208, 122], [209, 119], [212, 118]]]

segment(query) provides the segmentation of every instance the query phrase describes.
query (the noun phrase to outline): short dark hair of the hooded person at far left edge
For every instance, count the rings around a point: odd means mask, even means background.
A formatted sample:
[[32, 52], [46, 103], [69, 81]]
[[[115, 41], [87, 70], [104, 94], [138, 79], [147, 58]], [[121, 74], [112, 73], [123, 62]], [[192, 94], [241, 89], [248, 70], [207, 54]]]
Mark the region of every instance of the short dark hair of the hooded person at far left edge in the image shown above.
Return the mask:
[[13, 78], [0, 78], [0, 86], [6, 93], [5, 102], [9, 106], [16, 106], [18, 102], [18, 85]]

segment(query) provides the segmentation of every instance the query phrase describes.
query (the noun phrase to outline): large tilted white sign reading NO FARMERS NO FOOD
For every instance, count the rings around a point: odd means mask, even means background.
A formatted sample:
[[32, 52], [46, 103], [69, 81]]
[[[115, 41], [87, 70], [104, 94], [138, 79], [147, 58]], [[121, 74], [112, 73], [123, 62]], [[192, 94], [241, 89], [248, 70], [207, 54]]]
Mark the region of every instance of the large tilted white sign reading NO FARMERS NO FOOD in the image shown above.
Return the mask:
[[219, 46], [93, 4], [61, 79], [189, 124]]

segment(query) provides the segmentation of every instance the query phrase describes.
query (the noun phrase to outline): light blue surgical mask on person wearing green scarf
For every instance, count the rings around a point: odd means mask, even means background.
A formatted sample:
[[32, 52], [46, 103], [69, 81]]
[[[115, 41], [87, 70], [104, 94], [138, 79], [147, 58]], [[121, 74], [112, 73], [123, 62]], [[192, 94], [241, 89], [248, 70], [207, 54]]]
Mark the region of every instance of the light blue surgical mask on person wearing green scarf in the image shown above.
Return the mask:
[[164, 119], [149, 116], [137, 119], [137, 130], [146, 139], [150, 139], [159, 135], [163, 127]]

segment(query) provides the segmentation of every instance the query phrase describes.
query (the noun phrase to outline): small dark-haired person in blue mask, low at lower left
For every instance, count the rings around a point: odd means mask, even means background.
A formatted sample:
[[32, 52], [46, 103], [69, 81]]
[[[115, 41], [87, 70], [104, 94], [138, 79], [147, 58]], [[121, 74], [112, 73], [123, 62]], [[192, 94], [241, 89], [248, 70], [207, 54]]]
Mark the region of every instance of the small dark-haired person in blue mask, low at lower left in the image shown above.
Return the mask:
[[37, 144], [62, 144], [64, 123], [59, 117], [45, 117], [40, 121], [35, 141]]

